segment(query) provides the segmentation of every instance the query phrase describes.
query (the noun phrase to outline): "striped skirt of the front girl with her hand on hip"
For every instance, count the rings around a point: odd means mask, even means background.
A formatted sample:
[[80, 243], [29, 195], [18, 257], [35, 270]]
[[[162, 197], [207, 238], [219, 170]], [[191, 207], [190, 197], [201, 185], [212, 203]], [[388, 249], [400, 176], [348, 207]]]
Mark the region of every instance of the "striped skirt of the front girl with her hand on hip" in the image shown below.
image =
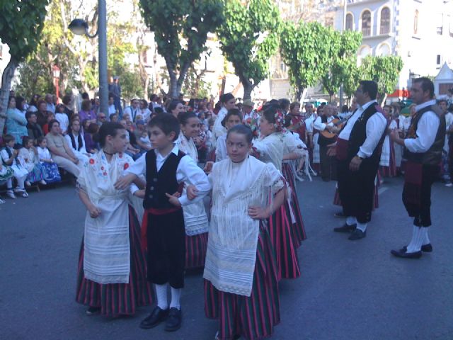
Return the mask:
[[205, 314], [219, 319], [219, 339], [262, 339], [280, 322], [275, 254], [268, 231], [260, 225], [251, 296], [225, 293], [205, 280]]

